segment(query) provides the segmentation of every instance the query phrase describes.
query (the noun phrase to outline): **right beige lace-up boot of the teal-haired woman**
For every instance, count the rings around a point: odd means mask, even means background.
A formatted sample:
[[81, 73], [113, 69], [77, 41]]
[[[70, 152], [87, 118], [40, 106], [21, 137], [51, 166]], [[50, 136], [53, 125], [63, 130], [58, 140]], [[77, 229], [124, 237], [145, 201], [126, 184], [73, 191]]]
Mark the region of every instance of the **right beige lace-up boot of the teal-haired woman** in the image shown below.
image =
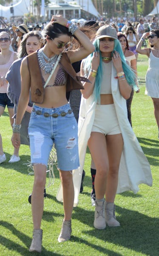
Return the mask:
[[115, 204], [114, 203], [106, 203], [105, 205], [105, 221], [109, 227], [119, 227], [119, 221], [116, 221], [115, 217]]

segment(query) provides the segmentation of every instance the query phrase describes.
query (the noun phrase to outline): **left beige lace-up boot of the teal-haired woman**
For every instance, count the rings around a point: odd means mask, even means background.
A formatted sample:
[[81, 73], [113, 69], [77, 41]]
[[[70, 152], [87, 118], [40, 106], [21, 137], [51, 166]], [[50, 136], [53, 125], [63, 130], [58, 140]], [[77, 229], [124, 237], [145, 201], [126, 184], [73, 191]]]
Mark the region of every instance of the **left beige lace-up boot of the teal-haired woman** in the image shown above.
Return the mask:
[[105, 200], [95, 201], [94, 227], [97, 229], [105, 229]]

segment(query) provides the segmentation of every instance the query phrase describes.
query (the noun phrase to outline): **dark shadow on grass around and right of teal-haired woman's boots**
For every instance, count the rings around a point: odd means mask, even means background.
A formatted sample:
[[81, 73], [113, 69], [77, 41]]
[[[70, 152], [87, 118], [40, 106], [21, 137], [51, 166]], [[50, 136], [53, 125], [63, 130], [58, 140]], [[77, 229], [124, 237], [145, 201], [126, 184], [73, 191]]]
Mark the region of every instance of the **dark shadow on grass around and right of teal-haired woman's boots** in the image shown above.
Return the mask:
[[[86, 211], [80, 207], [76, 207], [74, 209], [73, 219], [77, 218], [82, 223], [92, 227], [92, 230], [83, 232], [89, 236], [101, 239], [105, 241], [105, 243], [109, 242], [115, 244], [116, 246], [125, 247], [138, 253], [145, 253], [149, 256], [158, 256], [158, 219], [151, 218], [137, 211], [124, 209], [118, 206], [116, 206], [116, 212], [118, 212], [120, 215], [117, 217], [117, 219], [121, 226], [107, 226], [105, 230], [97, 230], [93, 228], [94, 208], [93, 211]], [[79, 241], [81, 243], [82, 240], [79, 239]], [[86, 241], [84, 241], [84, 243], [87, 244]], [[89, 246], [94, 248], [95, 245], [90, 244]], [[106, 249], [102, 247], [99, 247], [98, 250], [100, 250], [101, 253], [108, 253]], [[108, 253], [108, 255], [118, 254]], [[133, 255], [135, 255], [135, 253]]]

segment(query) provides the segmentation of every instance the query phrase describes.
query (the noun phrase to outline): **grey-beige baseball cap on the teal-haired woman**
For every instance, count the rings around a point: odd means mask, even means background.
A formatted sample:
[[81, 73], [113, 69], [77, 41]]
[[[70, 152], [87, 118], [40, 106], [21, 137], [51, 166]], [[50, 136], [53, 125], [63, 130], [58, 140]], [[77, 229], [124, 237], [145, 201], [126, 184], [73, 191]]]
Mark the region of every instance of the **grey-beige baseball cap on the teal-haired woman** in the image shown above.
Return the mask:
[[116, 29], [110, 25], [101, 26], [97, 30], [96, 39], [105, 38], [105, 37], [118, 39]]

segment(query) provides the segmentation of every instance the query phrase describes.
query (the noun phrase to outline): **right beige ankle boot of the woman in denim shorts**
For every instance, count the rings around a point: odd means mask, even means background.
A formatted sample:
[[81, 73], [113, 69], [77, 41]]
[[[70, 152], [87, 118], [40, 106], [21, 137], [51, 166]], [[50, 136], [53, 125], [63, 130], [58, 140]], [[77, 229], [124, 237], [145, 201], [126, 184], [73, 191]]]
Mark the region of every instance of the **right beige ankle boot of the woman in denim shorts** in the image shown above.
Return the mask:
[[61, 228], [61, 232], [60, 235], [58, 237], [58, 242], [65, 242], [70, 240], [71, 238], [71, 220], [70, 221], [64, 221], [62, 222], [62, 228]]

